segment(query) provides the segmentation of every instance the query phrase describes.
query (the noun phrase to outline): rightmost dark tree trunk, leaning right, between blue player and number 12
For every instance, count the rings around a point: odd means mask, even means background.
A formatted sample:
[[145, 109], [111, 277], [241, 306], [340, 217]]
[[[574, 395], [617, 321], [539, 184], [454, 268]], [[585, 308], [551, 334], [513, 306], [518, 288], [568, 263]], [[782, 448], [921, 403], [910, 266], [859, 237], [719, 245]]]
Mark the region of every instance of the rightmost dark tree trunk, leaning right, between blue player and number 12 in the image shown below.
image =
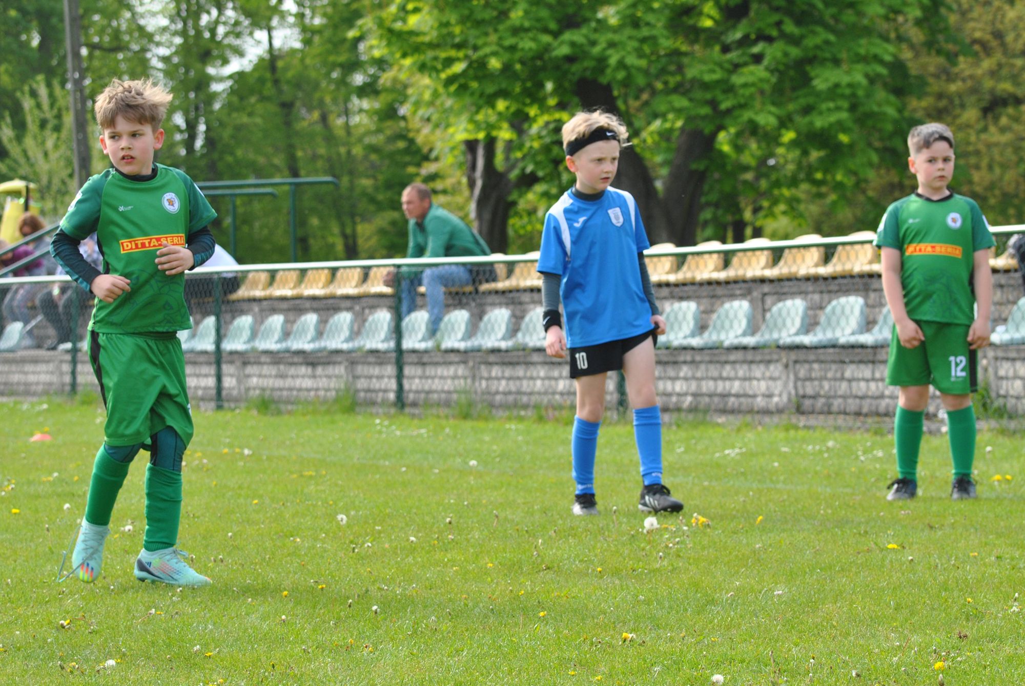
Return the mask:
[[693, 246], [697, 243], [701, 194], [704, 191], [706, 172], [694, 169], [693, 164], [711, 153], [715, 136], [715, 131], [705, 133], [686, 128], [676, 136], [676, 152], [665, 178], [662, 204], [669, 225], [665, 240], [678, 246]]

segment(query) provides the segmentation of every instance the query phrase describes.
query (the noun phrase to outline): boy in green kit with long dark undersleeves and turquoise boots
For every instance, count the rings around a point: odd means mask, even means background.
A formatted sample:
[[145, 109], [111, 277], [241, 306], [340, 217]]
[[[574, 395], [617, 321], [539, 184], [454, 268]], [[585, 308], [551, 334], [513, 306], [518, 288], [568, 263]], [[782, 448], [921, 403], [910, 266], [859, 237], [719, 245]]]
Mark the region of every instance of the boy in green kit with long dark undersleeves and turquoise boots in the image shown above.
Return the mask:
[[[145, 449], [146, 533], [135, 577], [210, 584], [176, 547], [181, 456], [193, 437], [177, 332], [192, 326], [183, 272], [213, 254], [207, 224], [216, 213], [183, 172], [154, 164], [170, 101], [171, 94], [149, 80], [114, 80], [99, 94], [99, 144], [113, 167], [85, 182], [51, 246], [65, 271], [96, 296], [88, 350], [107, 423], [69, 572], [83, 582], [99, 576], [114, 503], [129, 464]], [[101, 272], [78, 251], [93, 231]]]

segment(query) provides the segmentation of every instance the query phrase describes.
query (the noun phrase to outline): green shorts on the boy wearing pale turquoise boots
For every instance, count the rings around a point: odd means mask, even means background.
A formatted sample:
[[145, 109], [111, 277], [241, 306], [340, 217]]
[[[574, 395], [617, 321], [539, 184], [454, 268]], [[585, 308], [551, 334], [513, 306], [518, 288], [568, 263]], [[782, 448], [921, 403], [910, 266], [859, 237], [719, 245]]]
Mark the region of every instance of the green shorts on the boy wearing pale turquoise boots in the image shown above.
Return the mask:
[[109, 445], [149, 443], [165, 427], [186, 445], [193, 437], [181, 341], [89, 332], [89, 362], [107, 405]]

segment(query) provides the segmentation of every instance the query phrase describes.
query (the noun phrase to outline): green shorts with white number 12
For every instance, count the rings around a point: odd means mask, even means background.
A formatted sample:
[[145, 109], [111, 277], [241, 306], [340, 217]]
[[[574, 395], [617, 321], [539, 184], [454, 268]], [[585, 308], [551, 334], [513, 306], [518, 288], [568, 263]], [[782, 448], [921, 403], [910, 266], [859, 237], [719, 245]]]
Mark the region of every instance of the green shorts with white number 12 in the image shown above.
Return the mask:
[[890, 339], [887, 384], [932, 385], [941, 393], [967, 395], [978, 390], [977, 355], [969, 349], [967, 324], [915, 321], [926, 340], [916, 348], [900, 344], [897, 327]]

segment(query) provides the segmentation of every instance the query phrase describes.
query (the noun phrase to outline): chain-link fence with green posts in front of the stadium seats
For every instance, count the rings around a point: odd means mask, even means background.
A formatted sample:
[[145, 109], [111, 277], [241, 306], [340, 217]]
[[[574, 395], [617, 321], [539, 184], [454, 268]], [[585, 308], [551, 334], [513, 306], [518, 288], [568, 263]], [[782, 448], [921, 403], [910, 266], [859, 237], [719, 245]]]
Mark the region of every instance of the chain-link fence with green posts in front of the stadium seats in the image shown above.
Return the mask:
[[[1025, 415], [1025, 290], [996, 227], [993, 345], [980, 417]], [[887, 421], [892, 317], [874, 233], [753, 239], [646, 254], [668, 328], [657, 391], [670, 414]], [[572, 408], [566, 360], [544, 353], [537, 254], [200, 268], [186, 278], [190, 395], [208, 408], [343, 401], [364, 408]], [[0, 396], [96, 389], [83, 354], [92, 297], [67, 277], [0, 280]], [[607, 406], [625, 406], [609, 375]], [[938, 396], [930, 410], [940, 412]]]

